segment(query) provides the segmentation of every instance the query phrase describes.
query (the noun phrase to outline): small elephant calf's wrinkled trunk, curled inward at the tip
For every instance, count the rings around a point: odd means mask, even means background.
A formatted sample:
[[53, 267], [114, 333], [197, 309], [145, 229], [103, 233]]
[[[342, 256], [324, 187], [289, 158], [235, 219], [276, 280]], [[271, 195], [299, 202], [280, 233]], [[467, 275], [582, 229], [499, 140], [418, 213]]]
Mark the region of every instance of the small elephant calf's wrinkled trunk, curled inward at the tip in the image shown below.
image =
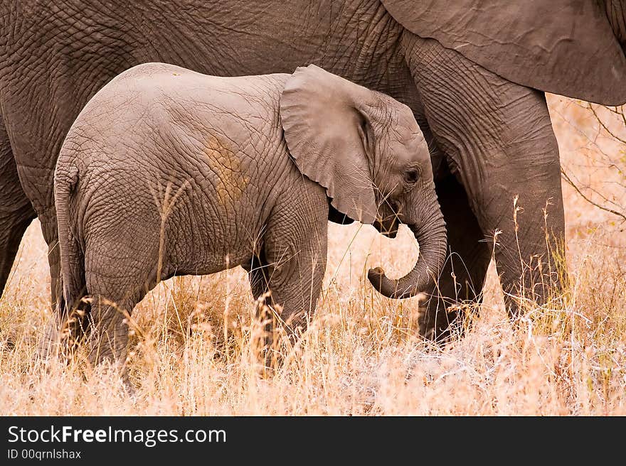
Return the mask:
[[398, 280], [388, 278], [379, 267], [368, 272], [367, 278], [383, 296], [410, 298], [428, 290], [434, 283], [433, 279], [439, 276], [445, 261], [447, 240], [445, 222], [436, 198], [422, 212], [429, 212], [429, 215], [416, 215], [413, 218], [421, 217], [420, 222], [408, 224], [420, 245], [420, 256], [413, 270]]

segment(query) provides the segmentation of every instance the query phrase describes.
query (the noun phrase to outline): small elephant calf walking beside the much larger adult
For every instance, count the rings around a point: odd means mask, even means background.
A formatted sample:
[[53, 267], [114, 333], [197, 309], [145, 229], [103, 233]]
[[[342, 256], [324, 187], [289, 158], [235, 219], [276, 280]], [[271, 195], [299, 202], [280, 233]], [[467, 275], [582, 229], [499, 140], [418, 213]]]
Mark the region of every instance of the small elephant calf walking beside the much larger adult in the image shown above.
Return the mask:
[[[408, 224], [413, 271], [370, 281], [413, 296], [445, 258], [428, 148], [408, 107], [321, 68], [292, 75], [201, 75], [132, 67], [87, 103], [55, 171], [59, 308], [85, 309], [90, 359], [124, 362], [124, 315], [160, 280], [243, 266], [255, 298], [291, 332], [318, 298], [330, 209]], [[333, 210], [334, 209], [334, 210]]]

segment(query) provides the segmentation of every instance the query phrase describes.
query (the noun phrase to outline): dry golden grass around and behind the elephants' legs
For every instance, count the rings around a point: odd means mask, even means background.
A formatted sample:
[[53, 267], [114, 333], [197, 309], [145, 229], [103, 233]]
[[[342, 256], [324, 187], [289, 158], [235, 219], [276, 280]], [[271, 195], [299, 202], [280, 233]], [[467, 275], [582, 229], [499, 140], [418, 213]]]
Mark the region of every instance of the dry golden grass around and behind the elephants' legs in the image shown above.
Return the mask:
[[[548, 99], [567, 173], [592, 200], [625, 206], [625, 147], [576, 102]], [[435, 347], [418, 337], [415, 298], [387, 300], [364, 281], [369, 266], [399, 274], [413, 264], [409, 232], [392, 240], [331, 225], [317, 315], [275, 374], [260, 376], [243, 271], [175, 278], [133, 314], [134, 397], [106, 367], [90, 368], [84, 349], [69, 365], [33, 362], [51, 315], [34, 222], [0, 300], [0, 414], [626, 415], [626, 224], [563, 190], [572, 280], [560, 305], [511, 323], [492, 267], [472, 330]]]

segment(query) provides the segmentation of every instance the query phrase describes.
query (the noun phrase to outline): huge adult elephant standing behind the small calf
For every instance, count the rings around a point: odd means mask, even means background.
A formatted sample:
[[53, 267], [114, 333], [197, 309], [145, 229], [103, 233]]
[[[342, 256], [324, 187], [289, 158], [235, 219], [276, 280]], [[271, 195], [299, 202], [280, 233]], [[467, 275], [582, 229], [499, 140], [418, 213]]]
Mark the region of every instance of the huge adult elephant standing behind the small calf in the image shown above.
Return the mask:
[[423, 334], [445, 336], [457, 315], [438, 311], [477, 299], [492, 254], [484, 239], [496, 231], [504, 291], [541, 299], [558, 286], [553, 248], [564, 231], [543, 91], [626, 102], [625, 24], [625, 0], [4, 0], [0, 286], [38, 216], [54, 298], [55, 161], [87, 99], [119, 72], [166, 62], [257, 75], [314, 63], [407, 104], [429, 141], [454, 254]]

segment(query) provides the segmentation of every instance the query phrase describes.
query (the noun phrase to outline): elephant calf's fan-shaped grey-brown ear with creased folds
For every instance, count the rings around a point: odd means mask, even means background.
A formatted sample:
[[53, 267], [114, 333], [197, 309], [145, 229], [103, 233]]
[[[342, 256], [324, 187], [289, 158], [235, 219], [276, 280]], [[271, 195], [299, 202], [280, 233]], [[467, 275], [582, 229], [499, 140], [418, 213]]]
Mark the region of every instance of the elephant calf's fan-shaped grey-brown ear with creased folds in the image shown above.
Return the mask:
[[376, 218], [371, 121], [363, 111], [372, 98], [365, 87], [315, 65], [297, 68], [280, 98], [285, 141], [297, 167], [326, 188], [336, 210], [363, 223]]

